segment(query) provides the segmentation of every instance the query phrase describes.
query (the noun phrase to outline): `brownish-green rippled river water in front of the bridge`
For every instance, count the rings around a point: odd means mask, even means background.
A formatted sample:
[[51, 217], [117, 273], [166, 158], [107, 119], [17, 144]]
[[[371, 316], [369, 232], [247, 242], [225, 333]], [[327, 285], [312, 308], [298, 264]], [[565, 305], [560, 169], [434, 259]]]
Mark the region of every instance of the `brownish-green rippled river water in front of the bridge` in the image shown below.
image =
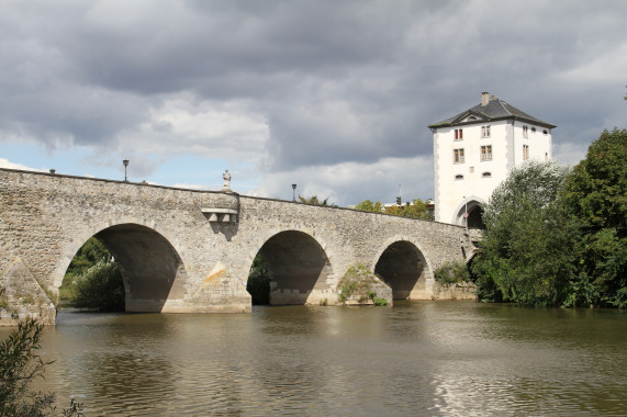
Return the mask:
[[[4, 335], [4, 330], [2, 333]], [[88, 416], [626, 415], [627, 312], [474, 302], [61, 312], [42, 352]]]

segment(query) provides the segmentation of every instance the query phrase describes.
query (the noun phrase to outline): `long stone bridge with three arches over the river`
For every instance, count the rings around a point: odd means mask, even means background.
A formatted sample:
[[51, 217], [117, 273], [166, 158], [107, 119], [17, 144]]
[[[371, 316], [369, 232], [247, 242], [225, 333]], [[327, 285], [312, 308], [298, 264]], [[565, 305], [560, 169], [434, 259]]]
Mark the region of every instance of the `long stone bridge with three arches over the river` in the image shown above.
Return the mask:
[[271, 304], [337, 304], [354, 264], [381, 277], [394, 298], [450, 297], [434, 269], [473, 250], [464, 229], [448, 224], [0, 169], [0, 322], [20, 304], [54, 324], [66, 270], [92, 236], [120, 264], [127, 312], [250, 312], [246, 283], [258, 253]]

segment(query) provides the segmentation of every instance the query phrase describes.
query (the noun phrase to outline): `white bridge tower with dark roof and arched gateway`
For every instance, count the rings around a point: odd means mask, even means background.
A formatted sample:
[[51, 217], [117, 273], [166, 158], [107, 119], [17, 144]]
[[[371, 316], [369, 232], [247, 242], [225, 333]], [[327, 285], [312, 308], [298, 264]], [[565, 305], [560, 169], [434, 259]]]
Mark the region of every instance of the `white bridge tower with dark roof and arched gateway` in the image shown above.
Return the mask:
[[551, 129], [557, 126], [483, 92], [480, 104], [428, 127], [436, 222], [483, 227], [481, 204], [512, 168], [551, 158]]

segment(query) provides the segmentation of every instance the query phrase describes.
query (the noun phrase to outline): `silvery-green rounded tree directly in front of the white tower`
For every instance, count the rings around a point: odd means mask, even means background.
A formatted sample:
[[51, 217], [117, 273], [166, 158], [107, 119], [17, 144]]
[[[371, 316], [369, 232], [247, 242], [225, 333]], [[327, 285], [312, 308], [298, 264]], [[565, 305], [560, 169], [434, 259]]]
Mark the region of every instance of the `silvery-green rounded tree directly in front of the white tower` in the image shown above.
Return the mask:
[[494, 190], [472, 266], [481, 298], [541, 306], [566, 302], [578, 238], [576, 222], [558, 200], [568, 173], [553, 161], [529, 161]]

